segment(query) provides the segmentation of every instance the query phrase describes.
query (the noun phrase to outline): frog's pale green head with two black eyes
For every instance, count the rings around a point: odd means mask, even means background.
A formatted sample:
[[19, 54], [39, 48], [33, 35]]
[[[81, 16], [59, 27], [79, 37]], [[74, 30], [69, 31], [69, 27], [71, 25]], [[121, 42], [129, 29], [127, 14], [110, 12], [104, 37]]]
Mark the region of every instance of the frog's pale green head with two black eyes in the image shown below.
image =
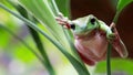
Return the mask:
[[88, 34], [93, 30], [99, 29], [99, 26], [98, 19], [92, 14], [73, 20], [71, 24], [71, 29], [76, 35]]

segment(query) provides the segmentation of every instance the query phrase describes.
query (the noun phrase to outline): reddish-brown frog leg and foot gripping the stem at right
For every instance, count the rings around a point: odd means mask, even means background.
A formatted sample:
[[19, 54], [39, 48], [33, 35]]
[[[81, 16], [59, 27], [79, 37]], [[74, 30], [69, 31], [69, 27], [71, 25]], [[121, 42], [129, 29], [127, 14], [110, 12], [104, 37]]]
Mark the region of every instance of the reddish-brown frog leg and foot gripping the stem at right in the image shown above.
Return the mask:
[[110, 29], [112, 31], [112, 33], [108, 34], [110, 42], [112, 43], [113, 47], [117, 51], [117, 53], [121, 55], [121, 57], [126, 57], [127, 50], [119, 35], [119, 32], [115, 28], [115, 23], [111, 23]]

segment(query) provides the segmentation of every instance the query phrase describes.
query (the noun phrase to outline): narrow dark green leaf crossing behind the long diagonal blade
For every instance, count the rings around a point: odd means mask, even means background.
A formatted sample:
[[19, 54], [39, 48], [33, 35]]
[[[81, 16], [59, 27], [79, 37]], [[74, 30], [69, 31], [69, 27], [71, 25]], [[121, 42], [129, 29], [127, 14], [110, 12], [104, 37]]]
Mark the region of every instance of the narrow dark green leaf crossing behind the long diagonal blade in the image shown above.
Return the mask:
[[[30, 21], [32, 21], [34, 23], [38, 23], [37, 20], [32, 15], [30, 15], [21, 6], [19, 6], [19, 4], [16, 6], [16, 3], [13, 1], [9, 1], [9, 3], [11, 3], [22, 17], [27, 18], [28, 20], [30, 20]], [[28, 28], [29, 28], [30, 34], [32, 35], [32, 39], [33, 39], [33, 41], [35, 43], [35, 46], [38, 47], [41, 56], [43, 57], [44, 62], [42, 64], [44, 65], [44, 67], [47, 67], [50, 75], [55, 75], [55, 72], [54, 72], [54, 69], [53, 69], [53, 67], [52, 67], [52, 65], [51, 65], [51, 63], [49, 61], [45, 49], [43, 47], [42, 41], [41, 41], [41, 39], [39, 36], [39, 33], [37, 31], [34, 31], [32, 28], [30, 28], [30, 26], [28, 26]]]

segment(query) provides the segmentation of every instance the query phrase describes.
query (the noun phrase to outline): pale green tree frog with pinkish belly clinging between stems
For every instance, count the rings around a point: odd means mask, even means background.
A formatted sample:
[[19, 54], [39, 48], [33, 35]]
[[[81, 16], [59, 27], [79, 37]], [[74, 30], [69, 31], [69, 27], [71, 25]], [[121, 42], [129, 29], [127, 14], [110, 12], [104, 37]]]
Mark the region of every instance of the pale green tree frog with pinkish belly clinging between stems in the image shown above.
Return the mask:
[[86, 64], [94, 65], [96, 62], [105, 60], [109, 42], [121, 57], [127, 56], [126, 47], [120, 39], [114, 23], [108, 26], [92, 14], [73, 21], [59, 17], [57, 21], [72, 30], [75, 49]]

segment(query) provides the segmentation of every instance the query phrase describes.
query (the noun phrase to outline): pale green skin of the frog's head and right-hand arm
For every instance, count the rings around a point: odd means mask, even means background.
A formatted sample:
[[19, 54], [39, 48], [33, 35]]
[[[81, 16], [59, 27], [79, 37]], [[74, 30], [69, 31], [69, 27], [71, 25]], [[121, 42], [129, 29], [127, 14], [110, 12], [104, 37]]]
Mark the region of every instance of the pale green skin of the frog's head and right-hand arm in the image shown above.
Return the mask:
[[[91, 19], [95, 19], [94, 24], [91, 23]], [[106, 33], [106, 38], [110, 40], [113, 38], [113, 33], [111, 31], [111, 28], [108, 26], [103, 21], [98, 20], [94, 15], [90, 14], [84, 18], [79, 18], [76, 20], [73, 20], [72, 23], [75, 24], [75, 30], [73, 30], [73, 33], [76, 35], [83, 35], [88, 34], [91, 31], [99, 29]]]

